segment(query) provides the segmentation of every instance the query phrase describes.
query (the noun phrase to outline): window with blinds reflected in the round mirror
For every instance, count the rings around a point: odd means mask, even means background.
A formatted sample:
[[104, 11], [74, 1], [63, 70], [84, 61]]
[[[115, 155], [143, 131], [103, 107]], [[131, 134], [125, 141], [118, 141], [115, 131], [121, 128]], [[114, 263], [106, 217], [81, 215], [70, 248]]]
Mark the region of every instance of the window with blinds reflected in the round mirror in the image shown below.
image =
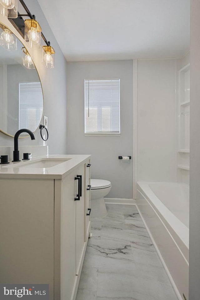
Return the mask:
[[42, 119], [43, 95], [40, 82], [19, 83], [19, 129], [34, 132]]

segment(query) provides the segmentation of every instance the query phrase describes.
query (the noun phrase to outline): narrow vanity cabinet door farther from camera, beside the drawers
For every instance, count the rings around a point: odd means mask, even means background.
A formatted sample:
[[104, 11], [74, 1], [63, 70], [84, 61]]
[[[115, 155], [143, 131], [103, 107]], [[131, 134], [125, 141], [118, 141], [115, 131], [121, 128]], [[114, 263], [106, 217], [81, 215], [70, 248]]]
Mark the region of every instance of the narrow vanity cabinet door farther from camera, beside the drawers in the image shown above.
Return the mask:
[[[82, 250], [84, 245], [84, 194], [85, 194], [85, 169], [84, 164], [78, 167], [77, 176], [81, 176], [81, 196], [80, 200], [76, 202], [76, 274], [78, 275], [81, 259]], [[78, 191], [78, 181], [77, 181], [77, 191]], [[78, 192], [77, 192], [78, 193]]]

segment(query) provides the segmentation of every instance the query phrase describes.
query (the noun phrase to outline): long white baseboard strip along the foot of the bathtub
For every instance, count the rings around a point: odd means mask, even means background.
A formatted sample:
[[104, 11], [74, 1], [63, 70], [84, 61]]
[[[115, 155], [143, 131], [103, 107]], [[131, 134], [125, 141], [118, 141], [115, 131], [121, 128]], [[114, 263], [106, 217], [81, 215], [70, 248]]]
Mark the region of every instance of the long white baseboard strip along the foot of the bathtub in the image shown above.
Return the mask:
[[145, 220], [144, 220], [144, 218], [143, 218], [142, 213], [140, 212], [140, 210], [139, 210], [137, 204], [135, 204], [135, 206], [136, 206], [136, 208], [137, 208], [137, 210], [138, 210], [138, 212], [139, 212], [139, 215], [140, 215], [140, 217], [141, 217], [141, 219], [142, 219], [142, 221], [143, 221], [143, 223], [144, 223], [144, 226], [145, 226], [145, 228], [146, 228], [146, 230], [147, 230], [147, 232], [148, 232], [148, 235], [149, 235], [150, 239], [152, 240], [152, 243], [153, 243], [153, 245], [154, 245], [154, 247], [155, 247], [155, 249], [156, 249], [156, 252], [158, 253], [159, 259], [161, 260], [161, 262], [162, 262], [162, 264], [163, 264], [163, 267], [164, 267], [164, 269], [165, 269], [165, 272], [167, 273], [167, 275], [168, 275], [168, 277], [169, 277], [169, 281], [170, 281], [171, 284], [172, 284], [172, 287], [173, 287], [173, 289], [174, 289], [175, 294], [177, 295], [178, 300], [183, 300], [183, 298], [182, 298], [181, 294], [179, 293], [179, 290], [178, 290], [178, 288], [177, 288], [177, 286], [176, 286], [176, 284], [175, 284], [175, 282], [174, 282], [174, 280], [173, 280], [173, 278], [172, 278], [172, 275], [170, 274], [169, 269], [168, 269], [168, 267], [167, 267], [167, 265], [166, 265], [166, 263], [165, 263], [165, 261], [164, 261], [164, 259], [163, 259], [163, 256], [161, 255], [160, 250], [158, 249], [158, 246], [157, 246], [156, 242], [154, 241], [153, 236], [152, 236], [150, 230], [148, 229], [148, 226], [147, 226], [147, 224], [146, 224], [146, 222], [145, 222]]

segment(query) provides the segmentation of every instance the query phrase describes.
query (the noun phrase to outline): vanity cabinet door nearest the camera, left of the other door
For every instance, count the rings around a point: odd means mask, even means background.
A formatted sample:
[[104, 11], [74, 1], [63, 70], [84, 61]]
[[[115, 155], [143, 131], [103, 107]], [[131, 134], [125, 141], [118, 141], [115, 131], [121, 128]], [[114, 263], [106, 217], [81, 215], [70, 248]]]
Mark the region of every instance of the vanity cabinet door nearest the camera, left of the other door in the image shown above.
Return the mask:
[[62, 180], [61, 299], [69, 300], [76, 282], [76, 171]]

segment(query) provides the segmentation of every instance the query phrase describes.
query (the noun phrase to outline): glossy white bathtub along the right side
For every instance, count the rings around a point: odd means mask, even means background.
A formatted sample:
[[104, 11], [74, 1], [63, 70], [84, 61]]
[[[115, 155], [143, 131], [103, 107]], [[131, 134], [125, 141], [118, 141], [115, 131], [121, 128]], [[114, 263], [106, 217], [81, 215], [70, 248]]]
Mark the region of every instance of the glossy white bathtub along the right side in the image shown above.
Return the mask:
[[136, 204], [182, 299], [188, 299], [189, 186], [138, 182]]

